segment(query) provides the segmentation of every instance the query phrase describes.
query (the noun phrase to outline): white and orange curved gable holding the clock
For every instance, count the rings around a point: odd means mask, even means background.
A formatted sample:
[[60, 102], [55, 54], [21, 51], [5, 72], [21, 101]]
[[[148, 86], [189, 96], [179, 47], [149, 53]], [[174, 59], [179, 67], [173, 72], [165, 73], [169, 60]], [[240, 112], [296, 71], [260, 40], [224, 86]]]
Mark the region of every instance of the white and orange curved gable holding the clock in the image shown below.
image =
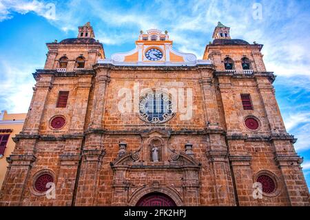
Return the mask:
[[116, 66], [196, 66], [197, 63], [210, 64], [197, 60], [195, 54], [178, 52], [172, 48], [167, 30], [141, 30], [136, 48], [130, 52], [118, 52], [111, 59], [100, 59], [98, 63], [112, 63]]

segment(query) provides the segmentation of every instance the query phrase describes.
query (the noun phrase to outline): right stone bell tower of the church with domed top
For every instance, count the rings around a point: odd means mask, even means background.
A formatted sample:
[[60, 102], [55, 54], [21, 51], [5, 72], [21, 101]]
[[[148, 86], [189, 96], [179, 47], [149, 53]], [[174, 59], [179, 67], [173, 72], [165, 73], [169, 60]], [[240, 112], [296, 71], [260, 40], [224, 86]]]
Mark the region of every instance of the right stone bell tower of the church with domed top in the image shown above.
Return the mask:
[[[215, 68], [238, 205], [309, 206], [302, 158], [285, 129], [272, 85], [276, 77], [265, 68], [262, 44], [231, 39], [229, 30], [218, 22], [203, 59]], [[261, 197], [254, 197], [254, 186], [262, 186]]]

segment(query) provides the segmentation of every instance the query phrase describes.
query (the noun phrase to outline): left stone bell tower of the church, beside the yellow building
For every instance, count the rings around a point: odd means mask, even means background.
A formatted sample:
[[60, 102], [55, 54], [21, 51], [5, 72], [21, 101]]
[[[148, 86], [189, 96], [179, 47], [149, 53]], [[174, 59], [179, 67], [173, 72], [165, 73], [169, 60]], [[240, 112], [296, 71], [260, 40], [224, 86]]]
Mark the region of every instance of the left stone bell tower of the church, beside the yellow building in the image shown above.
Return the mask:
[[[33, 74], [30, 108], [8, 157], [0, 206], [72, 206], [93, 66], [105, 54], [89, 22], [79, 27], [78, 37], [46, 45], [45, 66]], [[50, 182], [56, 199], [44, 196]]]

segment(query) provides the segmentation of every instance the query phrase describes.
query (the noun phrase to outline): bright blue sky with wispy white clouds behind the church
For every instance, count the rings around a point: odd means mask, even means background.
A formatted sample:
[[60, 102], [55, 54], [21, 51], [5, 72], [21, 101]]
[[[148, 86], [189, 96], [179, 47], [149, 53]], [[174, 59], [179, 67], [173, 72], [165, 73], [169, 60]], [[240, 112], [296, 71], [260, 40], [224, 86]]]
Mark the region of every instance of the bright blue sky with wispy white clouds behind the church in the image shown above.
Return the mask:
[[[55, 14], [50, 10], [53, 6]], [[257, 14], [260, 7], [262, 13]], [[132, 50], [140, 30], [158, 28], [168, 30], [174, 48], [193, 52], [198, 59], [221, 21], [231, 27], [231, 37], [264, 44], [265, 65], [278, 76], [276, 97], [288, 132], [298, 138], [295, 146], [304, 157], [309, 185], [309, 10], [307, 0], [0, 0], [0, 110], [27, 112], [34, 86], [32, 72], [44, 66], [45, 43], [76, 37], [77, 26], [87, 21], [107, 57]]]

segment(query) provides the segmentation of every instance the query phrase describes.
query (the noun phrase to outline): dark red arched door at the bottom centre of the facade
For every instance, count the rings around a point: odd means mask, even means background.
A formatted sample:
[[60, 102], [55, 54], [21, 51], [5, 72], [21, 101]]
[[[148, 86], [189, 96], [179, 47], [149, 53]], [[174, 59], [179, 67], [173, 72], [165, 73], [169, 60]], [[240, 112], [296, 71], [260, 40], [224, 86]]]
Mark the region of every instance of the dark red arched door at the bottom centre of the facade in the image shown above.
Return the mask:
[[136, 206], [176, 206], [176, 203], [163, 193], [152, 192], [142, 197]]

